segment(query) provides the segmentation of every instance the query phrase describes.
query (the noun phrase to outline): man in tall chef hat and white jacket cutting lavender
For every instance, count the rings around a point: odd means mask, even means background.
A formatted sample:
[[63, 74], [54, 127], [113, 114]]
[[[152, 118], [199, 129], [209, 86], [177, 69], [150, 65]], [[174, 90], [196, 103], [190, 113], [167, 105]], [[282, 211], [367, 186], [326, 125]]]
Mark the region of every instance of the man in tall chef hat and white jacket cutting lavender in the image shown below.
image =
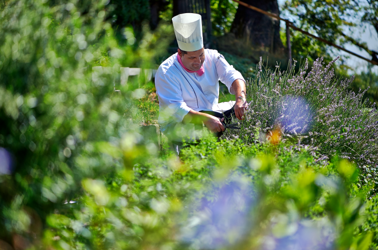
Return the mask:
[[[177, 145], [183, 138], [198, 138], [194, 124], [202, 122], [220, 136], [225, 130], [222, 122], [244, 117], [245, 80], [216, 50], [203, 48], [200, 15], [180, 14], [172, 21], [178, 53], [165, 60], [155, 76], [161, 131]], [[235, 101], [218, 103], [218, 81]]]

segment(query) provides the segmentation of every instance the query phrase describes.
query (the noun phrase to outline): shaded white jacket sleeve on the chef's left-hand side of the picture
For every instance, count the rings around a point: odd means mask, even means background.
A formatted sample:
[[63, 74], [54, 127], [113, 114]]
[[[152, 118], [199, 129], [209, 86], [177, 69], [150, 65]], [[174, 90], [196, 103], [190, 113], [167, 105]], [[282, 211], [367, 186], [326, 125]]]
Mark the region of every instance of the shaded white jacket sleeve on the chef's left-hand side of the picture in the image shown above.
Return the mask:
[[172, 120], [182, 122], [192, 109], [182, 99], [179, 81], [168, 74], [158, 72], [155, 87], [159, 98], [159, 123], [164, 124]]

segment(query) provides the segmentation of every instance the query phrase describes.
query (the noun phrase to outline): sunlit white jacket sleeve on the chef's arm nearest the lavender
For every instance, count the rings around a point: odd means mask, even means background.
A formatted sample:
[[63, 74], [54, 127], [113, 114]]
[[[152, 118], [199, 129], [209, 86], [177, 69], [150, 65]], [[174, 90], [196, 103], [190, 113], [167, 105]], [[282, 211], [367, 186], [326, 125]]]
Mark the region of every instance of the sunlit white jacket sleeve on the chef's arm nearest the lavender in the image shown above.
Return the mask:
[[216, 73], [218, 74], [219, 81], [224, 83], [231, 94], [235, 94], [231, 85], [236, 79], [240, 79], [246, 82], [239, 71], [237, 71], [232, 65], [230, 65], [223, 55], [216, 52], [214, 54], [214, 60], [216, 62]]

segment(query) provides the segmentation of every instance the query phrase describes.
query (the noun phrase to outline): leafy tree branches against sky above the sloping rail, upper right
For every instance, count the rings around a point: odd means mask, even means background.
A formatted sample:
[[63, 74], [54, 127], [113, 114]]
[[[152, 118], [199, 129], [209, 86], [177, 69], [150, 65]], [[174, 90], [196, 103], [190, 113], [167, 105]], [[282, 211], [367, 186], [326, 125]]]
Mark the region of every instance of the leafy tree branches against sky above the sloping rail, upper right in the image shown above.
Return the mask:
[[[378, 27], [376, 1], [294, 0], [286, 1], [284, 8], [291, 15], [298, 17], [296, 23], [301, 29], [335, 44], [356, 45], [368, 52], [372, 60], [378, 60], [377, 51], [369, 49], [366, 42], [361, 41], [358, 35], [349, 35], [358, 32], [357, 28], [363, 29], [364, 23]], [[345, 32], [346, 29], [349, 29], [349, 33]], [[326, 48], [325, 44], [320, 46]], [[300, 47], [298, 50], [301, 50]]]

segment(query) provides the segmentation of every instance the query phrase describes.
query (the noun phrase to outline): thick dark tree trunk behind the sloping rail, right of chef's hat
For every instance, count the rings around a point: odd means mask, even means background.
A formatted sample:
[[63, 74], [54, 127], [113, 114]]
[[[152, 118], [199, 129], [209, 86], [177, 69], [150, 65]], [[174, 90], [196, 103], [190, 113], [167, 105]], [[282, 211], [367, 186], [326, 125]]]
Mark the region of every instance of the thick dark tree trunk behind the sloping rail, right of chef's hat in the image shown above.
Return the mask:
[[[280, 15], [277, 0], [242, 0], [252, 6]], [[280, 37], [280, 21], [239, 4], [231, 32], [236, 38], [244, 38], [253, 45], [270, 52], [283, 52]]]

